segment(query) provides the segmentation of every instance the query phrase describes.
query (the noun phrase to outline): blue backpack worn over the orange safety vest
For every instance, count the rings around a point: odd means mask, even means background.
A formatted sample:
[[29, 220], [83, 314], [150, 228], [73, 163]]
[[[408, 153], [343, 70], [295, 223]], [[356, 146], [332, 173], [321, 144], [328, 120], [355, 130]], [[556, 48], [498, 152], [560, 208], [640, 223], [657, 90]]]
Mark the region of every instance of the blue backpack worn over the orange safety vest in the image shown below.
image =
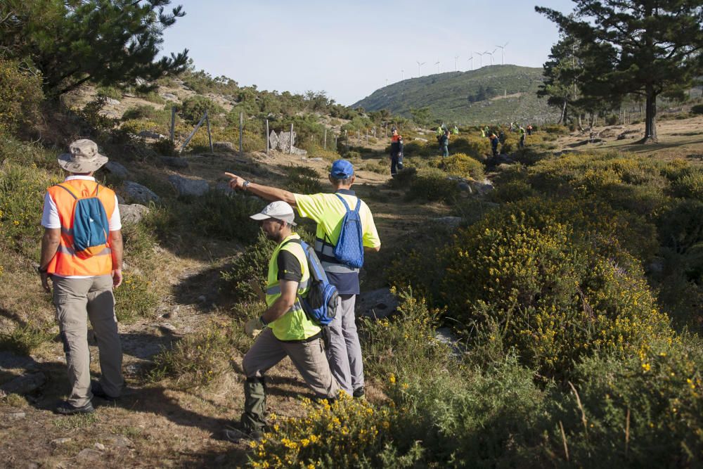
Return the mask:
[[108, 247], [108, 214], [98, 198], [100, 184], [95, 195], [82, 198], [69, 184], [58, 184], [76, 200], [73, 208], [73, 250], [79, 257], [92, 257]]

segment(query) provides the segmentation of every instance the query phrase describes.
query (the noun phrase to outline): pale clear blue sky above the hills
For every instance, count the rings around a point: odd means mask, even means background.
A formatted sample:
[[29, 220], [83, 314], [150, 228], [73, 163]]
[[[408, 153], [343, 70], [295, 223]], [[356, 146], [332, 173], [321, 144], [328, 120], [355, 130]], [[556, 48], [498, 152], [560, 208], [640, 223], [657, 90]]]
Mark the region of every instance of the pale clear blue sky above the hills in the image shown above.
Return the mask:
[[[535, 4], [564, 13], [570, 0], [240, 1], [174, 0], [186, 16], [165, 32], [163, 52], [190, 49], [195, 67], [240, 85], [326, 91], [345, 105], [404, 77], [478, 68], [475, 52], [505, 48], [505, 63], [541, 67], [557, 27]], [[471, 54], [471, 55], [470, 55]], [[467, 59], [472, 56], [470, 63]], [[483, 65], [491, 58], [482, 56]], [[501, 63], [501, 49], [494, 63]]]

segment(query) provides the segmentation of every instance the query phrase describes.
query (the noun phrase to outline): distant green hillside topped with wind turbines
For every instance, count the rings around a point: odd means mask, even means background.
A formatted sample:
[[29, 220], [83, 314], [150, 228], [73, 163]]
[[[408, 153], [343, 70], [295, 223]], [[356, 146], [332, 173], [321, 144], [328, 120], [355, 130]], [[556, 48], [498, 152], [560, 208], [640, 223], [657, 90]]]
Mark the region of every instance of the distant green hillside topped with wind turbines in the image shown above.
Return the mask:
[[[470, 72], [446, 72], [389, 84], [357, 101], [352, 108], [387, 109], [411, 117], [411, 108], [428, 106], [432, 117], [450, 123], [545, 122], [558, 118], [546, 99], [536, 96], [542, 69], [490, 65]], [[492, 88], [492, 98], [470, 103], [479, 89]]]

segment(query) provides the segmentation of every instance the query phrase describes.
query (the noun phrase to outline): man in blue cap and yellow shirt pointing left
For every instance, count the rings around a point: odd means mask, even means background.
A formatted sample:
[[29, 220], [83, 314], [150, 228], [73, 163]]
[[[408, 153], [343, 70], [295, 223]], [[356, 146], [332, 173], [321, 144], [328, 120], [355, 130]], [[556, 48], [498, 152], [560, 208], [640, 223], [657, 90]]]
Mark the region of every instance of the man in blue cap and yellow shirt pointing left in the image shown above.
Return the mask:
[[[347, 160], [337, 160], [333, 163], [329, 179], [335, 192], [331, 194], [294, 194], [283, 189], [254, 184], [236, 174], [225, 174], [231, 177], [229, 181], [231, 188], [250, 192], [265, 200], [283, 200], [296, 207], [301, 217], [311, 218], [317, 222], [315, 252], [323, 264], [330, 283], [337, 287], [340, 294], [337, 315], [329, 326], [330, 341], [327, 357], [340, 387], [354, 397], [363, 397], [361, 345], [359, 345], [359, 334], [356, 331], [354, 318], [354, 303], [356, 295], [359, 294], [359, 269], [343, 264], [334, 255], [347, 207], [354, 210], [359, 201], [352, 191], [355, 180], [352, 163]], [[340, 199], [344, 200], [347, 207]], [[364, 250], [380, 250], [381, 241], [373, 223], [373, 215], [363, 200], [359, 203], [359, 218]]]

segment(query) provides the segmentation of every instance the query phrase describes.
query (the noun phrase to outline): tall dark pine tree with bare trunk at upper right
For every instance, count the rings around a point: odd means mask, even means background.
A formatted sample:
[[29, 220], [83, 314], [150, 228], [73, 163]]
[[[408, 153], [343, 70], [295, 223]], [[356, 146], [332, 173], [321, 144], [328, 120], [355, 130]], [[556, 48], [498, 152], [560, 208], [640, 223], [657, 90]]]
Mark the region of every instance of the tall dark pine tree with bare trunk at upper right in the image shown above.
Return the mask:
[[586, 44], [585, 98], [611, 104], [628, 94], [645, 98], [645, 138], [657, 141], [657, 96], [685, 98], [683, 90], [703, 71], [700, 0], [574, 0], [573, 15], [535, 7], [562, 33]]

